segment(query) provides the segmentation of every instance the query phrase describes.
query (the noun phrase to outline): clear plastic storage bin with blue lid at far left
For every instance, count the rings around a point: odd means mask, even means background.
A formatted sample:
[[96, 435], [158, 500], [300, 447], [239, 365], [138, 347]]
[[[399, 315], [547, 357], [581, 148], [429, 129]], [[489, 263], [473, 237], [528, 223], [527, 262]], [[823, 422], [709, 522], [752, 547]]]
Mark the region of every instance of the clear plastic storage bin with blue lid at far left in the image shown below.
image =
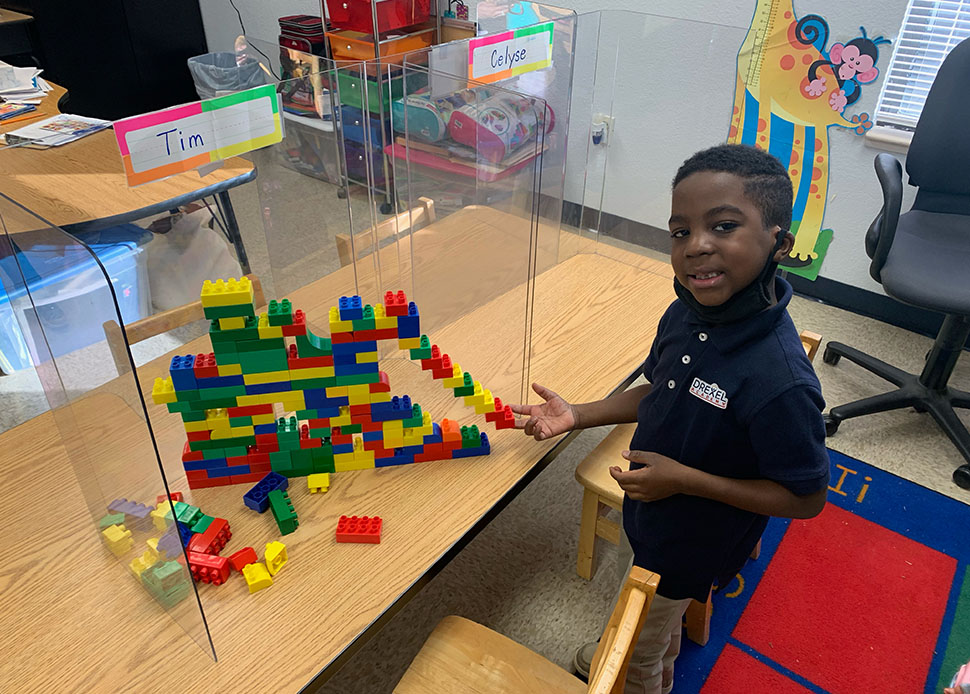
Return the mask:
[[[138, 227], [135, 227], [138, 229]], [[138, 229], [142, 235], [150, 232]], [[151, 293], [145, 249], [132, 234], [114, 237], [99, 232], [106, 243], [89, 244], [104, 265], [114, 287], [125, 323], [151, 314]], [[122, 237], [127, 240], [120, 240]], [[30, 287], [33, 303], [45, 330], [48, 347], [55, 357], [104, 340], [102, 323], [116, 319], [114, 304], [104, 275], [93, 259], [78, 264], [79, 254], [63, 253], [61, 246], [31, 246], [20, 252], [19, 260]], [[4, 282], [19, 278], [12, 257], [2, 261]], [[0, 287], [0, 369], [9, 373], [32, 365], [35, 344], [43, 339], [31, 313], [31, 301], [18, 281], [16, 287]], [[8, 289], [10, 290], [8, 293]], [[30, 326], [30, 327], [28, 327]], [[26, 333], [22, 330], [26, 329]]]

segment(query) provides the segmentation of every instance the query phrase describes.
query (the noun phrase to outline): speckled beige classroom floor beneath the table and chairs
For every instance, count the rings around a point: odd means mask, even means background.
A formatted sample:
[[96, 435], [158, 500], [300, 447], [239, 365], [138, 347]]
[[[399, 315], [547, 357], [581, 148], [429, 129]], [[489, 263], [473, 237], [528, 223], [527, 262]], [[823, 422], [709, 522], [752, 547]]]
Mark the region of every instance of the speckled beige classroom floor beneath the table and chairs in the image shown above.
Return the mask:
[[[295, 200], [300, 199], [299, 178], [294, 179], [294, 189], [290, 191]], [[244, 239], [249, 241], [253, 269], [260, 274], [267, 256], [265, 246], [260, 245], [263, 231], [255, 188], [236, 189], [232, 198]], [[319, 219], [316, 215], [346, 214], [346, 202], [335, 197], [314, 202], [312, 213], [307, 212], [307, 229], [313, 228], [314, 218]], [[297, 203], [294, 207], [300, 209], [303, 205]], [[267, 291], [267, 296], [273, 296], [271, 291]], [[800, 330], [820, 333], [825, 342], [846, 342], [909, 371], [919, 370], [932, 342], [930, 338], [800, 297], [792, 301], [790, 312]], [[191, 335], [155, 338], [139, 346], [139, 361], [173, 349], [187, 337]], [[643, 346], [644, 355], [649, 347]], [[845, 360], [833, 367], [819, 358], [816, 369], [829, 405], [885, 389], [879, 379]], [[966, 358], [958, 364], [953, 383], [970, 390], [970, 362]], [[555, 389], [559, 384], [545, 385]], [[5, 404], [0, 409], [0, 431], [46, 408], [39, 382], [31, 371], [0, 377], [0, 398]], [[961, 416], [970, 425], [970, 415], [964, 412]], [[600, 541], [592, 581], [579, 578], [575, 571], [582, 493], [573, 471], [606, 433], [605, 429], [598, 429], [581, 434], [321, 691], [390, 692], [434, 625], [448, 614], [481, 622], [551, 661], [571, 667], [577, 645], [598, 636], [615, 591], [614, 552], [607, 543]], [[959, 489], [950, 480], [962, 459], [927, 414], [910, 410], [846, 421], [829, 445], [970, 503], [970, 492]]]

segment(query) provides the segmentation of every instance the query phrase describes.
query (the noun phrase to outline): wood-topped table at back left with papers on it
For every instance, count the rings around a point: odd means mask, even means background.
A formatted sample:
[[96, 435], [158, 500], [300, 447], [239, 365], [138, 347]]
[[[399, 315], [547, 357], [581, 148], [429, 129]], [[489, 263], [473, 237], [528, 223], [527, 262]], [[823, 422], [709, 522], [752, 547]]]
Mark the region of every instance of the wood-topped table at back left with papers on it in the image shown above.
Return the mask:
[[[60, 113], [63, 87], [51, 85], [38, 107], [44, 117]], [[40, 118], [0, 124], [0, 133], [36, 123]], [[69, 232], [91, 231], [161, 214], [205, 197], [215, 196], [240, 265], [249, 272], [249, 260], [239, 236], [229, 189], [256, 178], [253, 165], [233, 157], [215, 171], [196, 171], [131, 188], [125, 178], [114, 132], [103, 130], [75, 142], [46, 150], [14, 147], [0, 149], [0, 193], [23, 205], [46, 222]], [[0, 213], [9, 203], [0, 200]], [[32, 231], [36, 223], [26, 229]]]

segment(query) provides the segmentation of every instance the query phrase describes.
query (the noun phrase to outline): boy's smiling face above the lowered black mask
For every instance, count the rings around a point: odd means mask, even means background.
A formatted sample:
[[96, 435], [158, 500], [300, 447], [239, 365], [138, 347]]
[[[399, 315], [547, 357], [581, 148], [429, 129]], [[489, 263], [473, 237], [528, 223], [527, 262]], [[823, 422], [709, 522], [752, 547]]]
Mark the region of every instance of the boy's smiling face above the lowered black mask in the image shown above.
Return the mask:
[[[767, 230], [760, 208], [744, 192], [744, 179], [698, 171], [673, 190], [670, 262], [677, 280], [704, 306], [720, 306], [761, 273], [781, 233]], [[781, 260], [791, 236], [775, 253]]]

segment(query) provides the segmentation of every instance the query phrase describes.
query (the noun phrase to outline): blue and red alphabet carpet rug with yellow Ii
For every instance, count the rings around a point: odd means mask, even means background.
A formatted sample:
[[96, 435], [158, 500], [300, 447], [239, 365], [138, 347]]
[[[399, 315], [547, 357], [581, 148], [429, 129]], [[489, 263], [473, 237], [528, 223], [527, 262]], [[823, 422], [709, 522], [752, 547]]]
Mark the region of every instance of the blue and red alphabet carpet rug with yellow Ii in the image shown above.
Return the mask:
[[675, 694], [939, 694], [970, 660], [970, 506], [829, 453], [825, 509], [770, 521]]

